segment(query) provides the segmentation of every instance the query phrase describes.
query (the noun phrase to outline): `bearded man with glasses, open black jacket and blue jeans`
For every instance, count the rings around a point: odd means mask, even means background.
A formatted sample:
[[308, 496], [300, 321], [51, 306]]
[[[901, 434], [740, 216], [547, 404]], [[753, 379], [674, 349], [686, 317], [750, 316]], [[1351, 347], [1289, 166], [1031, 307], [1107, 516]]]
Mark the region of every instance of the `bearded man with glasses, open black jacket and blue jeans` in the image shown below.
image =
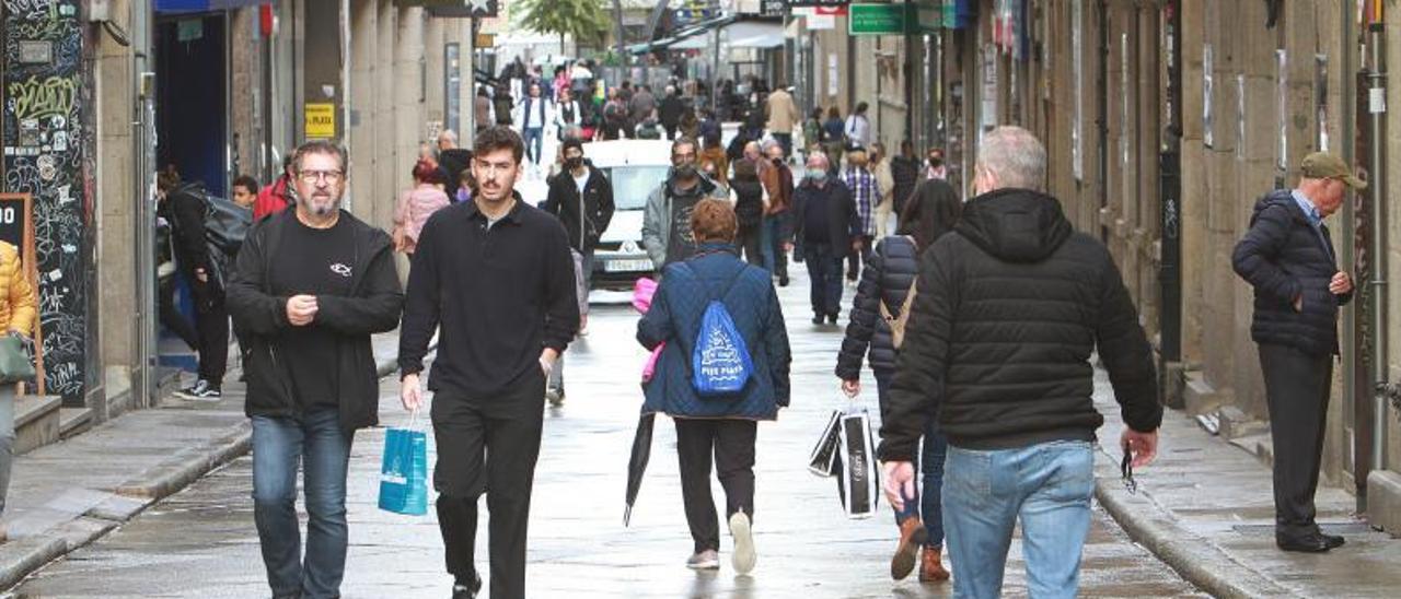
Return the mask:
[[[252, 418], [254, 521], [273, 598], [340, 596], [354, 431], [378, 424], [370, 336], [392, 330], [403, 294], [389, 235], [340, 209], [349, 164], [328, 141], [293, 160], [296, 210], [255, 227], [228, 286]], [[297, 469], [307, 546], [297, 523]]]

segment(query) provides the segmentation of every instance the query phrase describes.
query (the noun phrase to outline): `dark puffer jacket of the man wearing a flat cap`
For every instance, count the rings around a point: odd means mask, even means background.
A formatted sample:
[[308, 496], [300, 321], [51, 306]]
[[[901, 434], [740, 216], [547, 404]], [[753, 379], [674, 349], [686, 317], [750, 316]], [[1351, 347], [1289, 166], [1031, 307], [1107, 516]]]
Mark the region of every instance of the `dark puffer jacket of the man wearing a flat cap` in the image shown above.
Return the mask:
[[[1255, 343], [1313, 355], [1338, 353], [1338, 308], [1352, 300], [1352, 293], [1328, 291], [1338, 273], [1328, 227], [1320, 225], [1316, 232], [1289, 190], [1271, 192], [1255, 203], [1250, 231], [1236, 244], [1231, 266], [1255, 288], [1255, 318], [1250, 325]], [[1303, 311], [1296, 311], [1293, 302], [1300, 297]]]

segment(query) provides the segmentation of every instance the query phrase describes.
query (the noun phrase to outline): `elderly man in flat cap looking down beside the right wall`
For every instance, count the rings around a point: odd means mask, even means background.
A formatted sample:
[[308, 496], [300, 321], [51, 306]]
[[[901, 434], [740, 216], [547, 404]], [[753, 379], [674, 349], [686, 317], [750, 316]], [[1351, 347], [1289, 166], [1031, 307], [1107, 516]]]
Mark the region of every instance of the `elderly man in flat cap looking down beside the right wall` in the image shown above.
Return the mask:
[[1269, 430], [1275, 444], [1275, 543], [1285, 551], [1324, 553], [1344, 543], [1314, 522], [1338, 309], [1352, 300], [1352, 277], [1338, 269], [1328, 227], [1348, 188], [1367, 183], [1328, 153], [1304, 157], [1295, 189], [1255, 203], [1250, 231], [1231, 266], [1255, 288], [1251, 339], [1259, 346]]

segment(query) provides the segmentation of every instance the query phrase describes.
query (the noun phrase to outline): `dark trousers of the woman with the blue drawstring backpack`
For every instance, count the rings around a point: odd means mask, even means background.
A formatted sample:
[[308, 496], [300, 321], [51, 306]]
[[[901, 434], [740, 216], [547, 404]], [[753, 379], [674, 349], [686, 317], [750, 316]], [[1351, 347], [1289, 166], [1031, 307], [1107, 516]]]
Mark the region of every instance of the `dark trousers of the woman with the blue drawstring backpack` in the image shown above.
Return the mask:
[[754, 518], [754, 420], [677, 418], [681, 498], [695, 551], [720, 550], [720, 523], [710, 497], [710, 455], [724, 487], [726, 518], [743, 511]]

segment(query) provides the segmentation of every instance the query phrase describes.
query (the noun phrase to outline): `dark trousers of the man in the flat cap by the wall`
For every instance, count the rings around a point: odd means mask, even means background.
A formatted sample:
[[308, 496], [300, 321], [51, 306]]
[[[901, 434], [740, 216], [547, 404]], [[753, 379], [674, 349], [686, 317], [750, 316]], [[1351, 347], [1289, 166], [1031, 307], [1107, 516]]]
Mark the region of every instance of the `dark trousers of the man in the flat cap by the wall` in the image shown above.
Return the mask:
[[1332, 360], [1288, 346], [1259, 344], [1269, 434], [1275, 444], [1275, 533], [1317, 530], [1314, 490], [1332, 385]]

